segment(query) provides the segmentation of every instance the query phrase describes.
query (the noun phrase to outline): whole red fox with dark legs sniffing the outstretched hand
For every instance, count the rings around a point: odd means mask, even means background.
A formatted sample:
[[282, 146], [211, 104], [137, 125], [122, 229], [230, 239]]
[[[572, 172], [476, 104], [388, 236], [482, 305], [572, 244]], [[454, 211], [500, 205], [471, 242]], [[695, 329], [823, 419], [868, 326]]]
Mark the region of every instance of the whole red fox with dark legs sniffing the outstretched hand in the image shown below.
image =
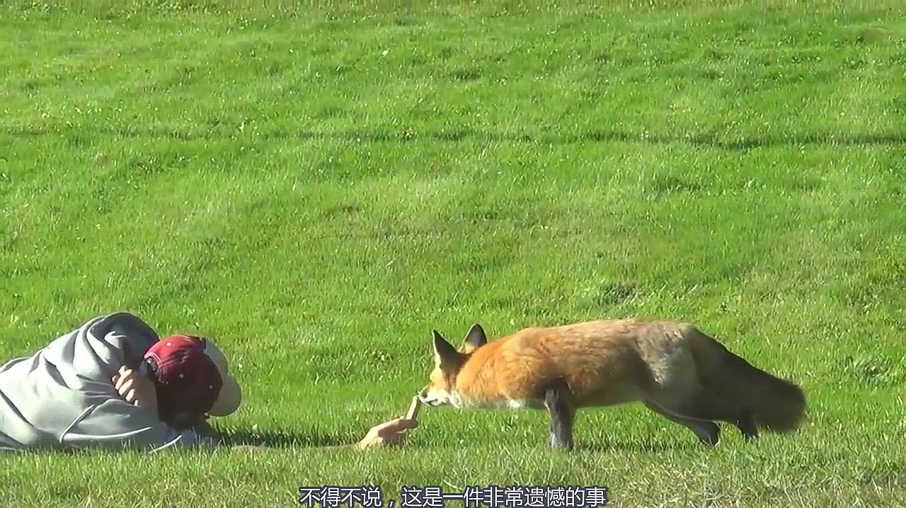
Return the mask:
[[748, 440], [792, 432], [805, 395], [737, 357], [695, 327], [669, 321], [589, 321], [527, 328], [487, 342], [481, 325], [456, 350], [434, 331], [435, 369], [419, 399], [429, 406], [530, 407], [550, 414], [550, 445], [573, 447], [580, 407], [641, 401], [717, 445], [714, 422]]

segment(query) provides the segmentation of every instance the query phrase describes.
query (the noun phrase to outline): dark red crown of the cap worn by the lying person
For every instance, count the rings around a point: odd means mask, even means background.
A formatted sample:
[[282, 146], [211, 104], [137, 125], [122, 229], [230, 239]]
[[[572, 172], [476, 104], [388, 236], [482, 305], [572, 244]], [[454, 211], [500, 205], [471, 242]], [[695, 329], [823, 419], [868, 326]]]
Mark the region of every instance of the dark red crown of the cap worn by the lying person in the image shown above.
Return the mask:
[[155, 384], [161, 419], [169, 422], [179, 413], [188, 413], [200, 421], [214, 406], [223, 379], [205, 353], [205, 339], [171, 335], [151, 346], [145, 359], [157, 367]]

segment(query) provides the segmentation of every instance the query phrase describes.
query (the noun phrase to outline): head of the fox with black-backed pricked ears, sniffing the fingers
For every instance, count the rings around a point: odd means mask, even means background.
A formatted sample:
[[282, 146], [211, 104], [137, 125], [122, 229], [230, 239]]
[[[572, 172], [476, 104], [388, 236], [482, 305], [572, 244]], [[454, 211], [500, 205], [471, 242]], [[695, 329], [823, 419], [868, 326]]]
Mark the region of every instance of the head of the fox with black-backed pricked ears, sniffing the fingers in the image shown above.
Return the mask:
[[428, 386], [421, 388], [419, 400], [429, 406], [449, 404], [463, 407], [463, 400], [457, 391], [456, 379], [459, 370], [472, 353], [487, 344], [487, 335], [480, 324], [472, 325], [463, 342], [456, 350], [438, 331], [434, 334], [434, 370], [429, 376]]

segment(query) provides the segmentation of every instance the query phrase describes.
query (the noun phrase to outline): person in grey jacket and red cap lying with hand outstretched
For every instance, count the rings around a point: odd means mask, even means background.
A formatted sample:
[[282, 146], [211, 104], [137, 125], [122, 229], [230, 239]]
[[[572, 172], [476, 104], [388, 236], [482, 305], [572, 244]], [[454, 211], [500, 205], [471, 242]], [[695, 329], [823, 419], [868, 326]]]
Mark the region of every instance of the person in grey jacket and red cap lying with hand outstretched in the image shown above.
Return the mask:
[[[241, 400], [212, 340], [160, 339], [138, 317], [114, 313], [0, 367], [0, 450], [217, 446], [207, 417], [226, 417]], [[399, 445], [416, 426], [390, 420], [351, 447]]]

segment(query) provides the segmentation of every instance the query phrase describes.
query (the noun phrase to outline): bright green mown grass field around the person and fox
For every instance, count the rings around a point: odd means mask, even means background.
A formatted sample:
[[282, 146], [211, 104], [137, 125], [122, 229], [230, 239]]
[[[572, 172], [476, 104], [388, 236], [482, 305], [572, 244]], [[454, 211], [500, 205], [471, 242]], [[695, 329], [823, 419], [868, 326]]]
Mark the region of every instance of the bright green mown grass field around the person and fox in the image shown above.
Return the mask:
[[[5, 455], [0, 503], [906, 504], [897, 3], [113, 4], [0, 7], [0, 358], [117, 310], [204, 333], [246, 391], [217, 425], [275, 449]], [[805, 427], [706, 448], [611, 407], [562, 454], [541, 412], [439, 408], [398, 450], [316, 448], [400, 416], [432, 328], [631, 316], [796, 379]]]

